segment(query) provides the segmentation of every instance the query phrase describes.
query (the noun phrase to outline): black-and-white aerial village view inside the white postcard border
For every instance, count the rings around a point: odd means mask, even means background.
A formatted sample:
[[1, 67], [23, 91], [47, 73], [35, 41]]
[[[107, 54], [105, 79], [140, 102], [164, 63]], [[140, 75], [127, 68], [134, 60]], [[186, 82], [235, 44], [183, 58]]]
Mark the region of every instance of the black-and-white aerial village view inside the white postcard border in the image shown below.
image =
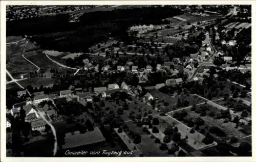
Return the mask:
[[7, 5], [6, 156], [252, 156], [251, 15]]

